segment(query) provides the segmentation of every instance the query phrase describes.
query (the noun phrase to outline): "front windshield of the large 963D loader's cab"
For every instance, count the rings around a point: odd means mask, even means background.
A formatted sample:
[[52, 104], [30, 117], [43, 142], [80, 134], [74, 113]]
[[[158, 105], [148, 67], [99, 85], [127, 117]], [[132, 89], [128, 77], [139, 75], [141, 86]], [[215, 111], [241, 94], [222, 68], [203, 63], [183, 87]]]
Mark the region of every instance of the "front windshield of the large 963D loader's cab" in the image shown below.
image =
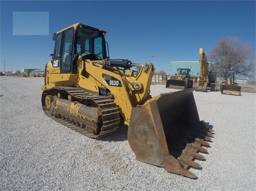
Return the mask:
[[88, 28], [79, 28], [77, 33], [77, 53], [82, 55], [83, 59], [105, 59], [104, 36]]

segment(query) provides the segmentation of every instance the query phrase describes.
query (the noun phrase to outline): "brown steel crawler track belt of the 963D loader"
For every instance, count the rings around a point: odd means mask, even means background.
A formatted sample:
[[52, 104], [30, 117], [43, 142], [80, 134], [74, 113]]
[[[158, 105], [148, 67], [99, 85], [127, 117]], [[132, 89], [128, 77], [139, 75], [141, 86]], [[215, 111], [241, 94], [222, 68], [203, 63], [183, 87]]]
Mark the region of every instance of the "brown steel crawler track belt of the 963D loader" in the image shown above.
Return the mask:
[[[66, 95], [71, 95], [75, 100], [79, 101], [81, 104], [85, 105], [91, 105], [91, 104], [97, 104], [97, 108], [101, 111], [102, 116], [103, 116], [103, 126], [99, 127], [99, 129], [104, 128], [104, 127], [109, 127], [111, 129], [100, 132], [98, 135], [95, 135], [89, 131], [87, 131], [85, 128], [81, 128], [79, 125], [75, 124], [72, 122], [72, 119], [63, 119], [63, 118], [58, 118], [57, 116], [53, 116], [49, 110], [45, 106], [45, 97], [46, 95], [56, 95], [56, 93], [62, 93]], [[85, 136], [88, 136], [90, 138], [100, 138], [102, 136], [106, 136], [108, 134], [113, 133], [114, 131], [117, 130], [118, 125], [120, 123], [120, 117], [119, 118], [113, 118], [112, 120], [105, 120], [107, 116], [112, 115], [112, 114], [119, 114], [120, 110], [119, 107], [115, 104], [114, 100], [112, 100], [109, 96], [96, 96], [96, 95], [91, 95], [84, 91], [81, 88], [75, 88], [75, 87], [54, 87], [51, 89], [44, 90], [42, 93], [42, 108], [44, 110], [44, 113], [46, 116], [52, 118], [56, 122], [71, 128], [72, 130], [75, 130]], [[118, 115], [119, 116], [119, 115]], [[86, 126], [86, 124], [84, 124]]]

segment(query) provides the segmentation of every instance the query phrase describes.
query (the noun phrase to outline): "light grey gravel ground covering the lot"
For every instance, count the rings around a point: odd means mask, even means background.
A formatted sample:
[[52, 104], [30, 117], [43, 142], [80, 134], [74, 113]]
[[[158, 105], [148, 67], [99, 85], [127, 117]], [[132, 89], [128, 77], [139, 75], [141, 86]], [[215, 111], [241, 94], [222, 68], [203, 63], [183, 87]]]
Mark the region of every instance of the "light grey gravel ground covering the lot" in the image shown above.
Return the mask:
[[[200, 120], [215, 130], [197, 179], [135, 160], [127, 126], [99, 140], [44, 115], [43, 78], [0, 77], [0, 190], [256, 189], [256, 94], [195, 92]], [[151, 85], [151, 95], [176, 91]]]

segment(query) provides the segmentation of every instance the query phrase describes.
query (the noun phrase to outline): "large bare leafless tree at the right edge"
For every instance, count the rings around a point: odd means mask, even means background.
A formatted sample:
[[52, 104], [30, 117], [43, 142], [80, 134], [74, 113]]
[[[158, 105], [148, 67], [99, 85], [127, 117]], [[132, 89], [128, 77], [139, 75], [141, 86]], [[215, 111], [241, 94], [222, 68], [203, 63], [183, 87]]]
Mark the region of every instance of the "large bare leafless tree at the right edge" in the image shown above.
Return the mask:
[[241, 43], [237, 37], [222, 37], [208, 55], [217, 76], [223, 79], [224, 72], [236, 71], [242, 79], [255, 78], [255, 53], [248, 43]]

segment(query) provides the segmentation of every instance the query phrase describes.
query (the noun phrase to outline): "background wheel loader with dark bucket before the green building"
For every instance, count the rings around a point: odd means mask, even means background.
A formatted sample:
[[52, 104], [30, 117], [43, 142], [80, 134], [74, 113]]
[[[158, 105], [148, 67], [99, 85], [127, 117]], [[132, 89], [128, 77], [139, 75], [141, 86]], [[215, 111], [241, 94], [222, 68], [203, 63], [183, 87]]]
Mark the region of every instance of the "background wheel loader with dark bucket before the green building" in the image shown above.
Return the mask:
[[176, 79], [169, 79], [166, 81], [165, 88], [172, 89], [188, 89], [193, 87], [193, 79], [189, 74], [189, 68], [178, 68], [178, 75]]

